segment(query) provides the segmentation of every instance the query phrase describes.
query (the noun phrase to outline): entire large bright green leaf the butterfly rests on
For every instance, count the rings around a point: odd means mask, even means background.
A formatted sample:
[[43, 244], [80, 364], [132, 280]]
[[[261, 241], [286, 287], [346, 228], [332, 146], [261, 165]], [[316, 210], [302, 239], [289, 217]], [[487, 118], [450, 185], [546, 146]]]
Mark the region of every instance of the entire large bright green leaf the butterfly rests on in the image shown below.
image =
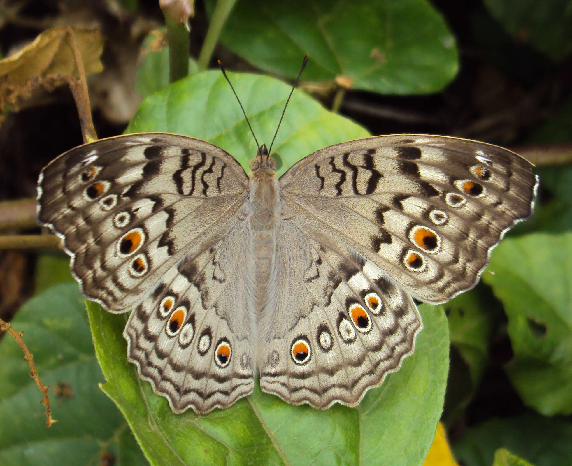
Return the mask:
[[[271, 140], [288, 86], [276, 79], [229, 74], [253, 129]], [[255, 143], [228, 84], [216, 71], [192, 75], [145, 99], [129, 131], [183, 133], [213, 142], [246, 166]], [[282, 170], [325, 145], [365, 130], [293, 94], [277, 138]], [[435, 435], [447, 375], [447, 322], [438, 306], [421, 306], [425, 328], [402, 369], [358, 408], [317, 411], [260, 392], [224, 411], [174, 415], [166, 400], [126, 362], [124, 316], [89, 306], [105, 392], [124, 413], [152, 464], [421, 464]]]

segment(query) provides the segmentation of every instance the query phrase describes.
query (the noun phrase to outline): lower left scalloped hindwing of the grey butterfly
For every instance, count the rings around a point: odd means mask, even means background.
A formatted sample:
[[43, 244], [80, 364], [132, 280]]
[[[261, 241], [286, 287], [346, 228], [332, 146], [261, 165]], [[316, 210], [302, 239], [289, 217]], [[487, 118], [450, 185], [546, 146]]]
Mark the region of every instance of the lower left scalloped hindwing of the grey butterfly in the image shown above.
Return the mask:
[[254, 357], [247, 312], [245, 223], [173, 266], [129, 317], [128, 358], [174, 412], [227, 408], [252, 392]]

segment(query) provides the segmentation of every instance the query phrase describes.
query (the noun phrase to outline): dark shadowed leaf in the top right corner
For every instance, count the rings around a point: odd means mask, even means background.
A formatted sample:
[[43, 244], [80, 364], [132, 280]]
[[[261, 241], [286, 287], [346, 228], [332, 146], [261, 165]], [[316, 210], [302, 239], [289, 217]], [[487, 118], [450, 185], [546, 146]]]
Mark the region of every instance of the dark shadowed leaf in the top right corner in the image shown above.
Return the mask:
[[569, 0], [484, 0], [491, 15], [519, 42], [529, 42], [554, 61], [572, 51]]

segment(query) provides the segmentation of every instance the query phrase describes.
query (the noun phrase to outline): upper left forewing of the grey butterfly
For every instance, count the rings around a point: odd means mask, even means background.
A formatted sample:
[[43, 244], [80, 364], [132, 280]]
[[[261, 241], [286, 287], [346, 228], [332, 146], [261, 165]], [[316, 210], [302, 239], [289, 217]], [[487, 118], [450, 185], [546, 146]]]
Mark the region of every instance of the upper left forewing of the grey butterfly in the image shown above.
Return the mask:
[[233, 216], [247, 186], [240, 164], [208, 142], [120, 136], [72, 149], [42, 170], [38, 220], [62, 238], [85, 296], [124, 312]]

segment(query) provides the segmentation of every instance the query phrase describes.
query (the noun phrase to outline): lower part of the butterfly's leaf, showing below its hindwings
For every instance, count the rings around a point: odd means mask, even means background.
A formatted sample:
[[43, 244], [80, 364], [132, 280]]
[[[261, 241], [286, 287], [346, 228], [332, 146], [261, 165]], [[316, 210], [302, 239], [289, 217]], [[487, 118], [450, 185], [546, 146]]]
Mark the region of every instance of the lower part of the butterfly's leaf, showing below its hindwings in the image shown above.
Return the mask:
[[[260, 391], [231, 408], [176, 415], [127, 362], [126, 318], [89, 303], [98, 360], [117, 404], [151, 464], [422, 464], [435, 436], [447, 375], [447, 325], [440, 306], [422, 305], [414, 355], [358, 408], [318, 411]], [[160, 435], [157, 435], [160, 433]]]

